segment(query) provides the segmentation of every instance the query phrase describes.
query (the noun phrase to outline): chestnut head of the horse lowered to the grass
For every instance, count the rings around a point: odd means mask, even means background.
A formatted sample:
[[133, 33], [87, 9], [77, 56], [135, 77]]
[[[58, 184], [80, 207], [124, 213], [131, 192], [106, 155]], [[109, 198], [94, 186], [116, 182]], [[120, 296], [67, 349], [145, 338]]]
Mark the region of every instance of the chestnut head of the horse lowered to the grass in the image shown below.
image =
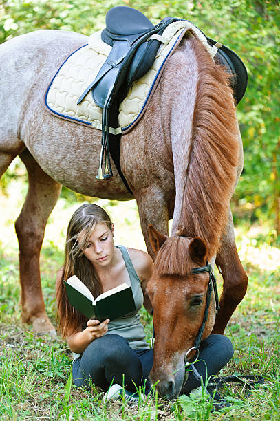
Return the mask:
[[[204, 320], [209, 272], [195, 273], [206, 266], [206, 245], [198, 237], [166, 237], [149, 227], [156, 253], [155, 270], [147, 285], [153, 305], [155, 329], [154, 361], [149, 378], [161, 396], [175, 398], [182, 389], [185, 356], [194, 345]], [[194, 271], [195, 272], [195, 271]], [[215, 323], [215, 302], [211, 299], [203, 338]], [[191, 360], [195, 349], [188, 353]]]

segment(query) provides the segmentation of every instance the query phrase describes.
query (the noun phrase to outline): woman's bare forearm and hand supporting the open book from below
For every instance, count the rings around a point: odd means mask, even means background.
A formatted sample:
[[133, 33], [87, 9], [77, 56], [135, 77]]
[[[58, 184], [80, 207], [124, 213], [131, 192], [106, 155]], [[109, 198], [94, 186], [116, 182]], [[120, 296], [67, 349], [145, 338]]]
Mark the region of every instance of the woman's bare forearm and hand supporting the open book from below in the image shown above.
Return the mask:
[[108, 330], [109, 319], [102, 323], [98, 320], [89, 320], [85, 330], [74, 332], [67, 336], [67, 343], [72, 352], [81, 354], [89, 346], [89, 344], [96, 338], [103, 336]]

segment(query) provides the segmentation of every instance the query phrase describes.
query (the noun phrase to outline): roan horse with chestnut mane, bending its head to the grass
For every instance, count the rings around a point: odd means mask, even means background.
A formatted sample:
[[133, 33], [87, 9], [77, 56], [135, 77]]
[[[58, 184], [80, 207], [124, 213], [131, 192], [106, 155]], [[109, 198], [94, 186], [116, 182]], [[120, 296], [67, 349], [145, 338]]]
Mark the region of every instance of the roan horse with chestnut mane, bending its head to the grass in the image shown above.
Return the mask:
[[[222, 273], [224, 288], [215, 322], [209, 318], [205, 334], [223, 333], [230, 316], [246, 293], [247, 277], [237, 254], [230, 212], [243, 166], [241, 136], [228, 75], [214, 63], [200, 41], [186, 32], [164, 68], [157, 89], [141, 120], [122, 135], [120, 166], [131, 192], [112, 163], [113, 177], [96, 180], [101, 132], [68, 122], [44, 107], [44, 94], [52, 76], [67, 56], [87, 44], [88, 37], [74, 32], [41, 30], [10, 39], [0, 46], [0, 175], [19, 155], [27, 169], [29, 188], [15, 228], [19, 240], [22, 319], [34, 332], [52, 332], [41, 290], [39, 255], [47, 219], [61, 193], [61, 186], [103, 199], [136, 199], [147, 250], [160, 256], [159, 239], [171, 238], [174, 270], [158, 271], [149, 282], [149, 294], [167, 293], [169, 300], [154, 305], [155, 363], [175, 360], [171, 338], [163, 341], [162, 329], [171, 332], [179, 320], [174, 303], [184, 300], [186, 268], [214, 262]], [[149, 224], [160, 235], [151, 235]], [[151, 230], [150, 230], [151, 231]], [[178, 243], [175, 239], [180, 238]], [[205, 244], [205, 256], [189, 251], [191, 239]], [[165, 237], [164, 237], [165, 238]], [[182, 242], [182, 239], [184, 240]], [[198, 240], [197, 240], [198, 241]], [[179, 253], [179, 242], [184, 252]], [[163, 247], [163, 246], [162, 246]], [[174, 248], [174, 249], [173, 249]], [[202, 247], [203, 248], [203, 247]], [[176, 260], [177, 252], [180, 259]], [[178, 255], [178, 256], [179, 256]], [[169, 255], [166, 255], [169, 260]], [[176, 267], [175, 267], [176, 266]], [[158, 281], [158, 277], [164, 278]], [[188, 272], [189, 273], [189, 272]], [[197, 277], [201, 285], [196, 283]], [[188, 275], [188, 294], [203, 293], [205, 274]], [[162, 286], [164, 285], [164, 286]], [[170, 288], [169, 288], [170, 287]], [[164, 292], [165, 291], [165, 292]], [[174, 301], [173, 301], [174, 300]], [[197, 310], [197, 321], [200, 313]], [[171, 314], [172, 320], [162, 316]], [[197, 322], [198, 323], [198, 322]], [[195, 326], [197, 327], [197, 323]], [[166, 325], [167, 324], [167, 325]], [[159, 327], [161, 325], [161, 327]], [[196, 327], [194, 326], [194, 329]], [[174, 347], [181, 354], [193, 334], [176, 332]], [[184, 343], [184, 347], [180, 347]], [[162, 351], [159, 348], [162, 347]], [[167, 352], [166, 347], [170, 347]], [[183, 349], [184, 348], [184, 349]], [[182, 356], [180, 356], [182, 360]], [[180, 359], [179, 358], [179, 359]], [[160, 373], [160, 379], [169, 374]]]

